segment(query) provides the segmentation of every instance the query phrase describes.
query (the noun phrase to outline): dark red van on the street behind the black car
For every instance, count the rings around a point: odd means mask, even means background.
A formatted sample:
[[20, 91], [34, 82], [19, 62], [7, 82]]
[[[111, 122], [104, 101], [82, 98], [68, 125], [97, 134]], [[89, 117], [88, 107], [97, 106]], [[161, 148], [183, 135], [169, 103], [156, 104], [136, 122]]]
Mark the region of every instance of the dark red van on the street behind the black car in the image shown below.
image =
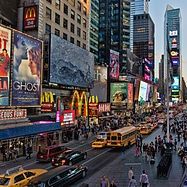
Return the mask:
[[71, 150], [63, 145], [52, 145], [49, 147], [40, 148], [36, 155], [36, 160], [39, 162], [50, 162], [52, 158], [64, 153], [67, 150]]

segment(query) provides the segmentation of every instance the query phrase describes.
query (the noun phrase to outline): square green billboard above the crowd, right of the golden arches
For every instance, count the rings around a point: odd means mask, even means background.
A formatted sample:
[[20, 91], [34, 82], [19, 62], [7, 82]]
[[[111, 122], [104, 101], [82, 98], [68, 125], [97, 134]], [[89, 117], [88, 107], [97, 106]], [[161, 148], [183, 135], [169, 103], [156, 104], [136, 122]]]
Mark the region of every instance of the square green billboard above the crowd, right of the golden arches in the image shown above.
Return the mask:
[[110, 102], [127, 103], [127, 83], [110, 84]]

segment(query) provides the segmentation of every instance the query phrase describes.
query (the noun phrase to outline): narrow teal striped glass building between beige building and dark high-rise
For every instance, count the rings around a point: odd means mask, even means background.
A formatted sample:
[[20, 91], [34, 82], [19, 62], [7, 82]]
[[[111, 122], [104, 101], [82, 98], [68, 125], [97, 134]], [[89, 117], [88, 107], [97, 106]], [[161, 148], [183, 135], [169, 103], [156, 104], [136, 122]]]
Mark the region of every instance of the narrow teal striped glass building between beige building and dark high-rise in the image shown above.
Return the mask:
[[94, 54], [95, 63], [98, 62], [99, 37], [99, 0], [91, 0], [91, 14], [89, 24], [89, 51]]

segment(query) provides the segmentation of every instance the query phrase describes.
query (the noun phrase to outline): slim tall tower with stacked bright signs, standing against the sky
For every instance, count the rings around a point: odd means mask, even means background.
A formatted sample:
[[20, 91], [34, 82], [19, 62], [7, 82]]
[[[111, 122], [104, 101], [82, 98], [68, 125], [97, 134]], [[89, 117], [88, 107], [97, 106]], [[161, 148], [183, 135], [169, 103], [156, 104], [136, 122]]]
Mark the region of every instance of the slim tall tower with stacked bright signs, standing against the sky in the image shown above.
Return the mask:
[[164, 18], [164, 63], [165, 78], [167, 68], [171, 78], [172, 101], [178, 102], [182, 96], [182, 59], [181, 59], [181, 14], [180, 9], [167, 5]]

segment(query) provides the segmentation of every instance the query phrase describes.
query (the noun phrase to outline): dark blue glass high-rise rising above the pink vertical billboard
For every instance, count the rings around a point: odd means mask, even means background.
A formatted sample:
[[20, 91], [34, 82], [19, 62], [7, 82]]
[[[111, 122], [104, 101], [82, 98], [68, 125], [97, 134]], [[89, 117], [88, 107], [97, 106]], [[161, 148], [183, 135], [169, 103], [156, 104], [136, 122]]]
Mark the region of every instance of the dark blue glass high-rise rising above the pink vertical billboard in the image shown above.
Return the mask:
[[110, 50], [119, 53], [120, 75], [126, 74], [130, 47], [130, 0], [100, 0], [99, 64], [109, 64]]

